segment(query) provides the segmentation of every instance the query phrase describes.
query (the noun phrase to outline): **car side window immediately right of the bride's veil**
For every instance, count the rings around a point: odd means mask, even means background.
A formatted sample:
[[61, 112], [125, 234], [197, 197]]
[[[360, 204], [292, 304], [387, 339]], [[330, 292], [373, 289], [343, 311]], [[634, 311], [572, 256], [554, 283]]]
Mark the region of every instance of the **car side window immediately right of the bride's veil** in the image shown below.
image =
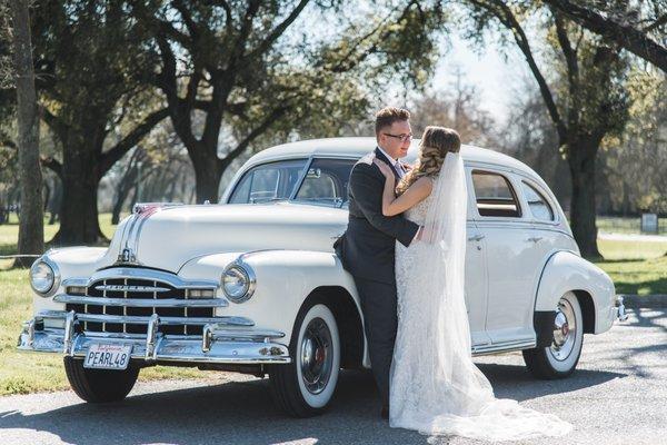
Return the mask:
[[506, 177], [499, 174], [472, 170], [475, 200], [480, 216], [521, 216], [516, 194]]

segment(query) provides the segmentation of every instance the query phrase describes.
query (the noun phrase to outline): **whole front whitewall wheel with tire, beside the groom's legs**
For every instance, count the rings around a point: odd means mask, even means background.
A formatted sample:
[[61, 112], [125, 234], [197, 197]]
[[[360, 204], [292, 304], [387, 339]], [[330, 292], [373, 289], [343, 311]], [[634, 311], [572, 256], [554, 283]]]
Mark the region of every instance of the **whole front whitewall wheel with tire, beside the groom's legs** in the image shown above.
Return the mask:
[[269, 369], [276, 404], [293, 417], [321, 414], [334, 396], [340, 370], [338, 326], [326, 305], [301, 308], [289, 352], [290, 364]]

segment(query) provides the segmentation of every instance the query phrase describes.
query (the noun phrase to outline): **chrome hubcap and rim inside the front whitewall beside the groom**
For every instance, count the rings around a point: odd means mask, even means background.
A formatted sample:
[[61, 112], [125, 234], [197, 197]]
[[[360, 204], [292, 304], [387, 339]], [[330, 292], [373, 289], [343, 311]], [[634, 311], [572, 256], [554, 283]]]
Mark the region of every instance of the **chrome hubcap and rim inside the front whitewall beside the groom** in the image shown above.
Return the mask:
[[321, 318], [310, 320], [301, 342], [301, 379], [311, 394], [321, 393], [331, 376], [331, 333]]

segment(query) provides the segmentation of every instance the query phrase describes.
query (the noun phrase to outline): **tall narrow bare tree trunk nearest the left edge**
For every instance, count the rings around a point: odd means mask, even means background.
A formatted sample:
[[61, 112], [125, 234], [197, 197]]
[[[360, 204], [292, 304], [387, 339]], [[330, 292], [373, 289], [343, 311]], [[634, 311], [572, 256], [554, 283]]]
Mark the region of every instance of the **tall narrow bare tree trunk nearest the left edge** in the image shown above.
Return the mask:
[[[19, 182], [22, 207], [18, 251], [19, 255], [41, 254], [44, 250], [42, 174], [39, 164], [39, 116], [34, 91], [28, 2], [26, 0], [12, 0], [11, 11], [17, 76]], [[14, 267], [28, 267], [31, 263], [31, 258], [18, 258], [14, 261]]]

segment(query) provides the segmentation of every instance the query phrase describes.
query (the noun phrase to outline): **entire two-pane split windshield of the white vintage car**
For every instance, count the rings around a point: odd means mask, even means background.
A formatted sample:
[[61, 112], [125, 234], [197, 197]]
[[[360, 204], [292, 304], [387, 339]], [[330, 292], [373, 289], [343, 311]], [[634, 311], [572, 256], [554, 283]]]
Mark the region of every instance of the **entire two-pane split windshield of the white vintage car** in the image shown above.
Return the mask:
[[[229, 204], [263, 204], [292, 199], [297, 202], [341, 207], [356, 159], [315, 158], [257, 166], [235, 187]], [[302, 178], [302, 180], [301, 180]]]

